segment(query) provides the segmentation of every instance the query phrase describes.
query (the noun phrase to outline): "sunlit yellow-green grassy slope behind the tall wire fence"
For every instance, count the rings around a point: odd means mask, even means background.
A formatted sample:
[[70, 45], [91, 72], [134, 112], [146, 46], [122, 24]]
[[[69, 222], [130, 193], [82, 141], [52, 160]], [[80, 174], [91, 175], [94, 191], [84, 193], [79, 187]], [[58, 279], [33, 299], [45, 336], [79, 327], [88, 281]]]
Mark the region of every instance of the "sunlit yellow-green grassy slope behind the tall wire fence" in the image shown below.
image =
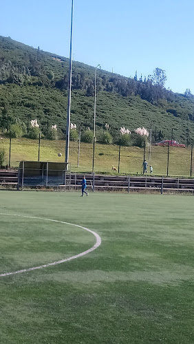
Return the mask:
[[[9, 158], [9, 140], [3, 138], [0, 147], [6, 148], [6, 162]], [[39, 142], [25, 138], [12, 140], [11, 165], [19, 166], [21, 160], [38, 159]], [[166, 175], [167, 147], [151, 147], [151, 160], [149, 161], [149, 149], [147, 148], [146, 159], [153, 166], [153, 174]], [[65, 152], [63, 140], [49, 141], [41, 140], [41, 161], [58, 161], [57, 153]], [[70, 142], [69, 161], [72, 164], [72, 171], [91, 172], [93, 145], [81, 142], [80, 144], [80, 167], [77, 168], [78, 142]], [[142, 173], [142, 161], [144, 151], [138, 147], [121, 147], [120, 152], [120, 173]], [[191, 149], [171, 147], [169, 155], [169, 175], [190, 175]], [[95, 171], [96, 173], [111, 173], [111, 166], [118, 166], [118, 146], [96, 144]]]

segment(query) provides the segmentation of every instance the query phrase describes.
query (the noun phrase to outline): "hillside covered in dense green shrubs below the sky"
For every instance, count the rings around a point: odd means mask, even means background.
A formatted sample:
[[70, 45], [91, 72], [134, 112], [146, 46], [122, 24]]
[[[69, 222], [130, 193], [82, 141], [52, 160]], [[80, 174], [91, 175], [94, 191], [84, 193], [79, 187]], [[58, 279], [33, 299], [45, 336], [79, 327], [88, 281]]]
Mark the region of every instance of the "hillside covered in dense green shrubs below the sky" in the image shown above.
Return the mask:
[[[68, 59], [0, 36], [0, 126], [37, 118], [44, 132], [53, 124], [65, 133]], [[78, 129], [93, 128], [94, 67], [74, 61], [72, 117]], [[174, 94], [152, 80], [98, 70], [97, 130], [109, 123], [116, 136], [125, 126], [162, 131], [165, 138], [194, 140], [194, 97]], [[189, 138], [188, 138], [189, 135]]]

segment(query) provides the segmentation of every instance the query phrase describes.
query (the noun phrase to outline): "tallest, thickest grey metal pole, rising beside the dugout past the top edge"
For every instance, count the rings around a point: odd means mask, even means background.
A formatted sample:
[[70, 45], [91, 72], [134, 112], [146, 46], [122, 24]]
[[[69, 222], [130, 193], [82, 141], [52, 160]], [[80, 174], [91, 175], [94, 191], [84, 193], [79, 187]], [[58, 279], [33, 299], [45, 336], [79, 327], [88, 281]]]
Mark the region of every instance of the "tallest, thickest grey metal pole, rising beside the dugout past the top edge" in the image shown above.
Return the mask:
[[66, 144], [65, 144], [65, 162], [69, 162], [69, 131], [70, 131], [70, 114], [71, 114], [71, 96], [72, 96], [72, 34], [73, 34], [73, 11], [74, 0], [72, 0], [72, 19], [70, 34], [70, 52], [69, 52], [69, 90], [67, 100], [67, 127], [66, 127]]

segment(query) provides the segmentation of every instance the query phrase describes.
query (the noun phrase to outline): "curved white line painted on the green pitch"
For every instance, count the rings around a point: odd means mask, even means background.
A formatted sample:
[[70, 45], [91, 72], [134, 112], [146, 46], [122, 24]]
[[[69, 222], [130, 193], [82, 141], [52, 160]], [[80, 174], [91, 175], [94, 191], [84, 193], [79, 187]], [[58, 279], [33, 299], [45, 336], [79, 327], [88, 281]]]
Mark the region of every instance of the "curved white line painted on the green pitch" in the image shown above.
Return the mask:
[[0, 274], [0, 277], [21, 274], [21, 272], [28, 272], [28, 271], [33, 271], [33, 270], [37, 270], [37, 269], [48, 268], [49, 266], [54, 266], [54, 265], [57, 265], [57, 264], [62, 264], [62, 263], [65, 263], [65, 261], [70, 261], [72, 259], [76, 259], [76, 258], [79, 258], [79, 257], [83, 257], [84, 255], [87, 255], [87, 253], [96, 250], [96, 248], [98, 248], [98, 246], [100, 246], [100, 244], [101, 244], [100, 235], [98, 235], [96, 232], [94, 232], [94, 230], [91, 230], [91, 229], [89, 229], [87, 227], [79, 226], [78, 224], [70, 224], [69, 222], [58, 221], [57, 219], [43, 219], [42, 217], [36, 217], [36, 216], [6, 214], [6, 213], [0, 213], [0, 215], [17, 216], [17, 217], [28, 217], [29, 219], [41, 219], [41, 220], [45, 220], [45, 221], [58, 222], [60, 224], [69, 224], [70, 226], [75, 226], [75, 227], [78, 227], [78, 228], [85, 229], [85, 230], [87, 230], [87, 232], [93, 234], [94, 237], [96, 237], [96, 244], [94, 244], [94, 246], [92, 246], [88, 250], [79, 253], [78, 255], [74, 255], [74, 256], [69, 257], [67, 259], [61, 259], [59, 261], [53, 261], [52, 263], [43, 264], [43, 265], [40, 265], [40, 266], [34, 266], [34, 267], [28, 268], [28, 269], [23, 269], [23, 270], [18, 270], [18, 271], [13, 271], [13, 272], [5, 272], [3, 274]]

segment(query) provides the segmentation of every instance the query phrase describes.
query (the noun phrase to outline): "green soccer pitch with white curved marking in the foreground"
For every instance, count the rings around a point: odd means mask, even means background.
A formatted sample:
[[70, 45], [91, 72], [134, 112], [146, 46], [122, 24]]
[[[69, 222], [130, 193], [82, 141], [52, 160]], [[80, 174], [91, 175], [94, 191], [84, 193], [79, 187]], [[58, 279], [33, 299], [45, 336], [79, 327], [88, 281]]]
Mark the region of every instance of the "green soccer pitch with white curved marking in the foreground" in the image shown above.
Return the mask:
[[0, 197], [1, 344], [194, 343], [193, 195]]

